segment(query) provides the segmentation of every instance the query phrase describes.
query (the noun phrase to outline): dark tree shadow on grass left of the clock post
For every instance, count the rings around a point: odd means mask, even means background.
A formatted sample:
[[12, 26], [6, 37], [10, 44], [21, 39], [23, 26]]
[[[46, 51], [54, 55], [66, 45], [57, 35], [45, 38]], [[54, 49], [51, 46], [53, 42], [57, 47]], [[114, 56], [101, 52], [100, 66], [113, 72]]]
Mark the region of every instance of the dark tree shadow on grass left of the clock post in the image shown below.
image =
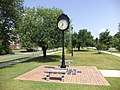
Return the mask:
[[[40, 56], [25, 62], [42, 62], [42, 63], [58, 62], [60, 59], [61, 57], [59, 55], [48, 55], [46, 58], [44, 58], [43, 56]], [[25, 62], [22, 62], [22, 63], [25, 63]]]

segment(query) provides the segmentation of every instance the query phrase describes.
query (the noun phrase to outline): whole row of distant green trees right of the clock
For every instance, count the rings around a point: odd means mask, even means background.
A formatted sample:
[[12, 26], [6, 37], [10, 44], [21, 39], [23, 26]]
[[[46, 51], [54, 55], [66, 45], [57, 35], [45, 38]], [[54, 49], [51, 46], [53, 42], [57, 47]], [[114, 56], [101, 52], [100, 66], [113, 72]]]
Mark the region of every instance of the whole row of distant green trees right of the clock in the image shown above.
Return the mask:
[[116, 48], [120, 51], [120, 23], [118, 25], [118, 32], [114, 35], [110, 35], [110, 31], [101, 32], [99, 38], [93, 39], [90, 31], [87, 29], [81, 29], [78, 33], [73, 33], [72, 39], [73, 47], [96, 47], [97, 50], [108, 50], [109, 48]]

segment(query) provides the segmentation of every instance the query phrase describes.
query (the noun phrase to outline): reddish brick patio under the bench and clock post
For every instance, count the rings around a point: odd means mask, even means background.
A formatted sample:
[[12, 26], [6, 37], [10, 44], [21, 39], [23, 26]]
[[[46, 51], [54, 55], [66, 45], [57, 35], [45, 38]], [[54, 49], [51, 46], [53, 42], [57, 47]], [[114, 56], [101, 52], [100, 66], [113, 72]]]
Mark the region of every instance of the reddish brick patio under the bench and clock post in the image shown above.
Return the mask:
[[37, 67], [17, 78], [16, 80], [32, 80], [42, 82], [59, 82], [59, 83], [73, 83], [73, 84], [86, 84], [86, 85], [110, 85], [103, 75], [94, 66], [70, 66], [69, 69], [76, 69], [76, 75], [65, 74], [64, 82], [60, 81], [61, 75], [51, 74], [49, 81], [45, 80], [46, 74], [44, 70], [58, 69], [57, 66], [40, 66]]

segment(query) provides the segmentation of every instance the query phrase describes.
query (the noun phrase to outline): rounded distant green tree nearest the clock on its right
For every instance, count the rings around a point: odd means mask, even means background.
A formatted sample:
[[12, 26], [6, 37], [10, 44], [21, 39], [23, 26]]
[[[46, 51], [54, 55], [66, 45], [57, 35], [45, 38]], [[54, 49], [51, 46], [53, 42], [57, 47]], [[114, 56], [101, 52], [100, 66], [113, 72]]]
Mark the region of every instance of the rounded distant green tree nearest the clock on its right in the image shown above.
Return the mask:
[[79, 30], [78, 33], [73, 33], [72, 45], [73, 47], [77, 47], [80, 50], [80, 47], [88, 47], [93, 46], [94, 40], [90, 31], [87, 29]]

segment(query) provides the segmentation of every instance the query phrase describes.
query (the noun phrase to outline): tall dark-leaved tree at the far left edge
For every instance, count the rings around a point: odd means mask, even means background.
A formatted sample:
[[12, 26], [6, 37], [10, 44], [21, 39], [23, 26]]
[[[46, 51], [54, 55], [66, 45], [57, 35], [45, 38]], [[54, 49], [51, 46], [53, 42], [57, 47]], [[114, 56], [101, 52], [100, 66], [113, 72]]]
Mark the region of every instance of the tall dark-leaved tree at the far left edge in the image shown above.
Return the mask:
[[0, 41], [2, 49], [10, 53], [9, 44], [13, 39], [12, 30], [20, 20], [23, 0], [0, 0]]

